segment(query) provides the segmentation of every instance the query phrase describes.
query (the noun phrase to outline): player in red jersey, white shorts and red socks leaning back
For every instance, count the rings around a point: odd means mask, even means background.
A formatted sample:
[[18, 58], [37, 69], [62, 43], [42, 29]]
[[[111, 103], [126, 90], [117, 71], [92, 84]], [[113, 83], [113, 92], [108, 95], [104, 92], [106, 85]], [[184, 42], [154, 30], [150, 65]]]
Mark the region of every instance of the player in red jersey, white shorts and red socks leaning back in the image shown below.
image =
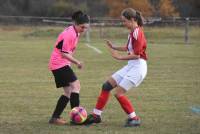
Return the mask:
[[[140, 118], [136, 116], [133, 105], [125, 93], [141, 84], [147, 74], [146, 39], [142, 30], [143, 21], [140, 13], [132, 8], [124, 9], [121, 13], [124, 26], [130, 31], [128, 42], [124, 46], [115, 46], [107, 41], [107, 46], [113, 58], [127, 60], [128, 64], [115, 72], [102, 86], [93, 113], [86, 120], [86, 124], [100, 123], [101, 113], [106, 105], [110, 91], [115, 88], [115, 97], [120, 103], [128, 119], [125, 126], [140, 125]], [[117, 51], [127, 51], [128, 55], [120, 55]]]

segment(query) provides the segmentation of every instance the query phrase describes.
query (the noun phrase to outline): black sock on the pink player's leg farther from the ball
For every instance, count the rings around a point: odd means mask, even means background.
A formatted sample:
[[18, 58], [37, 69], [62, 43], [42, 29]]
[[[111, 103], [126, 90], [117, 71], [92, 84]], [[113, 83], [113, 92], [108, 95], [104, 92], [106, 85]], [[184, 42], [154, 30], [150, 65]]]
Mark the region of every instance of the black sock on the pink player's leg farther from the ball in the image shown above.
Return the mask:
[[60, 98], [58, 99], [56, 108], [53, 112], [52, 118], [59, 118], [63, 110], [65, 109], [67, 103], [69, 101], [69, 98], [61, 95]]

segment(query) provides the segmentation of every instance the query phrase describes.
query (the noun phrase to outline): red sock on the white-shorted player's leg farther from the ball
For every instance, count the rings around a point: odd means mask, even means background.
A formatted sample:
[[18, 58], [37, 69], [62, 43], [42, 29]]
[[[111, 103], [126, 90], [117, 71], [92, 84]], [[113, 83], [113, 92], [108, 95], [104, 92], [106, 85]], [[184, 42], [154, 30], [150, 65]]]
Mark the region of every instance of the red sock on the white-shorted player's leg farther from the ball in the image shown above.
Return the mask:
[[119, 101], [121, 107], [123, 108], [123, 110], [127, 113], [127, 114], [130, 114], [132, 112], [134, 112], [134, 108], [133, 108], [133, 105], [131, 104], [131, 102], [129, 101], [129, 99], [124, 96], [124, 95], [121, 95], [119, 97], [116, 97], [117, 100]]

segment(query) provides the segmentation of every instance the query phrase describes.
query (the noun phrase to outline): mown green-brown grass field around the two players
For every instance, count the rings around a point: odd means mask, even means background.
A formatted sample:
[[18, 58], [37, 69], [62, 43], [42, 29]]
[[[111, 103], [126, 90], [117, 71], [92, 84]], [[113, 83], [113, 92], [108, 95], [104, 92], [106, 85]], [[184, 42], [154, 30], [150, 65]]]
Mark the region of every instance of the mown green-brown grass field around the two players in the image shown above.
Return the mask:
[[[173, 44], [174, 38], [161, 44], [165, 39], [162, 31], [171, 33], [169, 29], [148, 29], [148, 75], [141, 86], [127, 94], [142, 119], [138, 128], [123, 127], [126, 115], [113, 96], [101, 124], [89, 127], [48, 124], [62, 93], [55, 88], [47, 68], [53, 44], [61, 30], [61, 27], [0, 27], [0, 134], [200, 133], [200, 113], [191, 110], [200, 107], [199, 27], [193, 29], [194, 39], [188, 45]], [[173, 34], [176, 35], [174, 31]], [[155, 43], [157, 39], [159, 42]], [[115, 38], [115, 42], [126, 42], [126, 38]], [[103, 53], [88, 48], [82, 39], [75, 57], [84, 61], [85, 67], [78, 70], [73, 66], [82, 85], [81, 105], [88, 112], [95, 105], [102, 83], [126, 64], [111, 58], [103, 40], [92, 39], [91, 45]], [[68, 106], [63, 113], [67, 120], [69, 111]]]

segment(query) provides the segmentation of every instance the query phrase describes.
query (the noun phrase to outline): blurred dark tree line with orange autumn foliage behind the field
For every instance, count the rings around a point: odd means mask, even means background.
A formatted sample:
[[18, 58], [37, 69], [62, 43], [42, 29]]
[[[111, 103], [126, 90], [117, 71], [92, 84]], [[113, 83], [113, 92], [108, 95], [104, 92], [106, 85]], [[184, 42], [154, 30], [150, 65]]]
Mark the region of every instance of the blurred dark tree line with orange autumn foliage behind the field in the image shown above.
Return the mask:
[[68, 17], [81, 9], [92, 17], [119, 17], [126, 7], [148, 17], [200, 17], [200, 0], [0, 0], [0, 15]]

